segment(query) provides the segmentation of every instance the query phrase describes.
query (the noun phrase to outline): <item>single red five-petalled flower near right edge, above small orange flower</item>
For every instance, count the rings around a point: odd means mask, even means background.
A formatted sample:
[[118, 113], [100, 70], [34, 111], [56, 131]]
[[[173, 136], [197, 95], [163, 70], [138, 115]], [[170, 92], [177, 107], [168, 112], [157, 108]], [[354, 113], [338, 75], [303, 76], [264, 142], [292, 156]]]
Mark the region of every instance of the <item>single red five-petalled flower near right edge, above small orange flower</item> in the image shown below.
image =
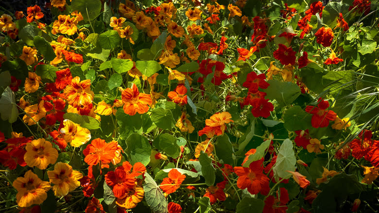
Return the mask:
[[329, 102], [320, 97], [317, 106], [307, 106], [305, 108], [306, 112], [313, 114], [311, 124], [314, 128], [327, 127], [329, 121], [336, 120], [337, 114], [332, 110], [327, 110], [328, 107]]

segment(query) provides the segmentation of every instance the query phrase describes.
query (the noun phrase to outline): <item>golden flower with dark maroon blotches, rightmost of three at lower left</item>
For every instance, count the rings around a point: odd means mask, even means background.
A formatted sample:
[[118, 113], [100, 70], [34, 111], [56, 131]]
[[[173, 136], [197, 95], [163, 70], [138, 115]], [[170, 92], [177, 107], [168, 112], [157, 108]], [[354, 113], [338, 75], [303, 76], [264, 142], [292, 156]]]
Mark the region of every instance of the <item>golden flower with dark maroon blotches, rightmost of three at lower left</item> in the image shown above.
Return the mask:
[[79, 171], [72, 170], [72, 167], [63, 162], [58, 162], [53, 171], [48, 171], [50, 182], [54, 184], [52, 191], [57, 197], [65, 196], [69, 192], [80, 186], [83, 174]]

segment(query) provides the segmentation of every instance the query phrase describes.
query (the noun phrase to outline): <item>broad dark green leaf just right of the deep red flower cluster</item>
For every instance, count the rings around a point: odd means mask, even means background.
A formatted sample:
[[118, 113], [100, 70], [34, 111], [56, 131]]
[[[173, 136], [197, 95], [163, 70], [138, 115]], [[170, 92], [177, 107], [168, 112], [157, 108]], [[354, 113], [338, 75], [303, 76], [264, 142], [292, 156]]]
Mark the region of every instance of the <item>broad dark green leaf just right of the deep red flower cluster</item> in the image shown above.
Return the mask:
[[277, 80], [268, 80], [267, 82], [270, 86], [267, 89], [263, 89], [267, 93], [266, 98], [275, 99], [278, 106], [291, 104], [301, 94], [299, 86], [292, 82], [280, 82]]

